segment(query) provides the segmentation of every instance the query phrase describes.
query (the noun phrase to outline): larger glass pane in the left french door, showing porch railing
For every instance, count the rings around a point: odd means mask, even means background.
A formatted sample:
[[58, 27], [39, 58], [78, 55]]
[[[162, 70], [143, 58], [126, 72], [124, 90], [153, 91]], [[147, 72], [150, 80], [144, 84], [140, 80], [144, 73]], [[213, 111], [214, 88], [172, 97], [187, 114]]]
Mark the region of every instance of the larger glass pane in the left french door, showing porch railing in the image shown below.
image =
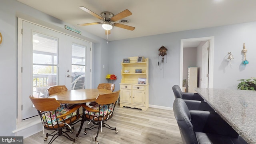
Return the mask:
[[57, 85], [58, 39], [33, 32], [33, 96], [47, 97]]

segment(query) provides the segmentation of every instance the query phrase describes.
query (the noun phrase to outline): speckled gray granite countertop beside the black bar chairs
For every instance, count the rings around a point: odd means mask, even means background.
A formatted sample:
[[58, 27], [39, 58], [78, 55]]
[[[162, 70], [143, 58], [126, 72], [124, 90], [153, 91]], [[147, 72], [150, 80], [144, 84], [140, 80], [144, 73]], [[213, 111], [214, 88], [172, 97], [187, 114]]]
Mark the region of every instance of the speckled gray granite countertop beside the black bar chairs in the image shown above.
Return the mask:
[[256, 91], [195, 90], [248, 144], [256, 144]]

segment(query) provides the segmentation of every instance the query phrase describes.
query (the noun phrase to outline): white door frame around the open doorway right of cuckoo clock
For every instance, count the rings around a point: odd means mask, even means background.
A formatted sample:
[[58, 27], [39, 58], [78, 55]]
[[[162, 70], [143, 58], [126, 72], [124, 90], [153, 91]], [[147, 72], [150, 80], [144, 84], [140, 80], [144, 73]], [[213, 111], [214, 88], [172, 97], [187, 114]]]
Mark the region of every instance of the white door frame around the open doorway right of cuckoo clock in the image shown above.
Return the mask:
[[209, 41], [209, 85], [208, 88], [213, 88], [213, 56], [214, 56], [214, 36], [203, 38], [188, 38], [180, 40], [180, 87], [182, 88], [183, 78], [183, 44], [184, 42]]

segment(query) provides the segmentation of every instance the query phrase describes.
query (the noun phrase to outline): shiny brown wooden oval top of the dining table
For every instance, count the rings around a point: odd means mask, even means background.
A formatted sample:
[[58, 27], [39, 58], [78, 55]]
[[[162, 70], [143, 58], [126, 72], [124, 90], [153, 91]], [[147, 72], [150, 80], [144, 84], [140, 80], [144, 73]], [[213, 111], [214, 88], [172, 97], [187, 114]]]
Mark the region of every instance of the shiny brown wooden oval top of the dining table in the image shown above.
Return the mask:
[[109, 94], [111, 90], [105, 89], [80, 89], [58, 92], [49, 96], [55, 98], [63, 104], [82, 104], [86, 102], [94, 102], [99, 94]]

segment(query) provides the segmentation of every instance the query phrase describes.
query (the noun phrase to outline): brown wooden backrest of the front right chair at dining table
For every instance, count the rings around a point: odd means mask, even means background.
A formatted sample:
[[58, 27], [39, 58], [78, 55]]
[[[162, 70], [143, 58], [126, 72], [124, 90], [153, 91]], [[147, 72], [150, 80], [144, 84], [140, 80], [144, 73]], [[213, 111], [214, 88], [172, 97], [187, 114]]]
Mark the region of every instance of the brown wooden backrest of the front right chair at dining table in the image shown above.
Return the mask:
[[97, 102], [100, 105], [115, 104], [116, 101], [118, 100], [119, 94], [120, 94], [120, 90], [110, 94], [99, 94], [95, 102]]

